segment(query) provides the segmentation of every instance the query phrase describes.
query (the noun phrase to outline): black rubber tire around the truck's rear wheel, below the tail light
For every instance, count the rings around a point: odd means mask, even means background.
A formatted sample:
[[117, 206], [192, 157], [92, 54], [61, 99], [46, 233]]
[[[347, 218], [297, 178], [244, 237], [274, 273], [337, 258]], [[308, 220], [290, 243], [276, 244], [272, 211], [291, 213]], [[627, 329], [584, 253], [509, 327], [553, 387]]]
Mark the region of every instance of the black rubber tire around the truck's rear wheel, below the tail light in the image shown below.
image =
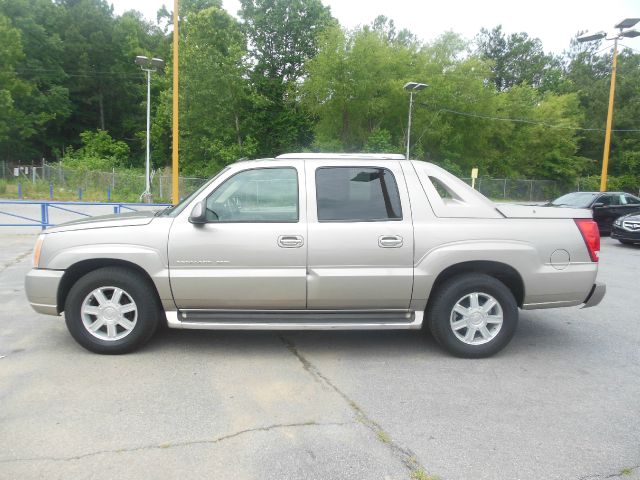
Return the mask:
[[[458, 335], [464, 334], [463, 336], [467, 338], [466, 334], [470, 332], [470, 341], [485, 341], [486, 343], [466, 343], [458, 338], [453, 330], [452, 315], [454, 307], [459, 301], [464, 303], [466, 300], [463, 299], [468, 298], [467, 296], [473, 293], [479, 294], [480, 301], [482, 299], [488, 301], [489, 297], [492, 297], [497, 302], [497, 307], [492, 308], [489, 312], [494, 312], [495, 314], [500, 309], [502, 311], [502, 324], [499, 328], [494, 323], [485, 324], [485, 327], [489, 328], [491, 335], [495, 335], [490, 340], [485, 340], [484, 334], [473, 327], [471, 330], [465, 327], [458, 327]], [[463, 358], [483, 358], [502, 350], [513, 337], [518, 326], [518, 305], [511, 290], [502, 282], [489, 275], [470, 273], [457, 275], [446, 280], [432, 293], [427, 306], [426, 318], [434, 338], [447, 351]], [[457, 314], [454, 318], [462, 319], [463, 317]], [[479, 318], [478, 321], [481, 322], [482, 319]], [[485, 330], [484, 333], [489, 330]]]

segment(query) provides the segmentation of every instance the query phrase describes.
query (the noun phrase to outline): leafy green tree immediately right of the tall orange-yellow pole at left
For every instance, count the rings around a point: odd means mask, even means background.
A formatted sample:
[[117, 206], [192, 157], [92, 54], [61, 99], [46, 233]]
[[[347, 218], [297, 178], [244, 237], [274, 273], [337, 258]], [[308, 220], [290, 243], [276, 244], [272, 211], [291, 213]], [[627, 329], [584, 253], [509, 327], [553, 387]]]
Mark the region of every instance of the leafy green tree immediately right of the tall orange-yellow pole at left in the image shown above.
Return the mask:
[[183, 166], [186, 173], [211, 174], [255, 154], [245, 128], [253, 99], [245, 78], [246, 40], [238, 21], [215, 6], [188, 13], [183, 33]]

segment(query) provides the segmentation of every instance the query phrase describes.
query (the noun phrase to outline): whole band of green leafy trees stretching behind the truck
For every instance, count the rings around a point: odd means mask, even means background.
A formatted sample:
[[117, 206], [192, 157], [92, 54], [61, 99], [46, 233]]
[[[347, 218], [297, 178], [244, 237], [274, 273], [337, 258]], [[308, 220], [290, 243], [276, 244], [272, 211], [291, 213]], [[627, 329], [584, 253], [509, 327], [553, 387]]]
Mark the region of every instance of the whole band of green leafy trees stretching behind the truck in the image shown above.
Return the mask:
[[[180, 165], [209, 175], [295, 150], [404, 152], [458, 175], [581, 185], [600, 173], [612, 52], [575, 40], [562, 57], [525, 32], [454, 32], [425, 43], [392, 19], [341, 28], [321, 0], [183, 0]], [[0, 0], [0, 157], [90, 169], [144, 164], [146, 81], [171, 72], [171, 12], [114, 15], [106, 0]], [[622, 48], [611, 188], [640, 183], [640, 55]], [[151, 83], [151, 160], [170, 165], [172, 83]]]

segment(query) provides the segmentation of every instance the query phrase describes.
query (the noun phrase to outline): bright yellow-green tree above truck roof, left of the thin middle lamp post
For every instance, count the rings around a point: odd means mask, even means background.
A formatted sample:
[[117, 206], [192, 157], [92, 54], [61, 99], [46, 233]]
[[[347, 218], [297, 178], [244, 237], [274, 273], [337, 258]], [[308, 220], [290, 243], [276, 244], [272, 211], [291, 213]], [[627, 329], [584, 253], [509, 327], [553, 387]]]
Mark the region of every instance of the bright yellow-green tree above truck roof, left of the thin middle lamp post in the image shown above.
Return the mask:
[[385, 32], [335, 27], [322, 35], [320, 53], [307, 63], [302, 86], [304, 105], [317, 118], [315, 147], [361, 150], [378, 129], [400, 145], [405, 118], [402, 85], [414, 52], [389, 40]]

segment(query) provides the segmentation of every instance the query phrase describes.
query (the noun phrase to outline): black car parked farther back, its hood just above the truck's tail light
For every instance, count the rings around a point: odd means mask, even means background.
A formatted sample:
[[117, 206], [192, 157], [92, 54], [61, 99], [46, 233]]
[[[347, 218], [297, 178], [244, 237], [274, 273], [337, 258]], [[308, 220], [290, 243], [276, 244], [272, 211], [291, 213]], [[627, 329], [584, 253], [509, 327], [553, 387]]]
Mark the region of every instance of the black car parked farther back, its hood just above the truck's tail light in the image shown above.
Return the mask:
[[624, 192], [573, 192], [548, 204], [552, 207], [588, 208], [600, 233], [610, 233], [613, 221], [629, 213], [640, 213], [640, 198]]

